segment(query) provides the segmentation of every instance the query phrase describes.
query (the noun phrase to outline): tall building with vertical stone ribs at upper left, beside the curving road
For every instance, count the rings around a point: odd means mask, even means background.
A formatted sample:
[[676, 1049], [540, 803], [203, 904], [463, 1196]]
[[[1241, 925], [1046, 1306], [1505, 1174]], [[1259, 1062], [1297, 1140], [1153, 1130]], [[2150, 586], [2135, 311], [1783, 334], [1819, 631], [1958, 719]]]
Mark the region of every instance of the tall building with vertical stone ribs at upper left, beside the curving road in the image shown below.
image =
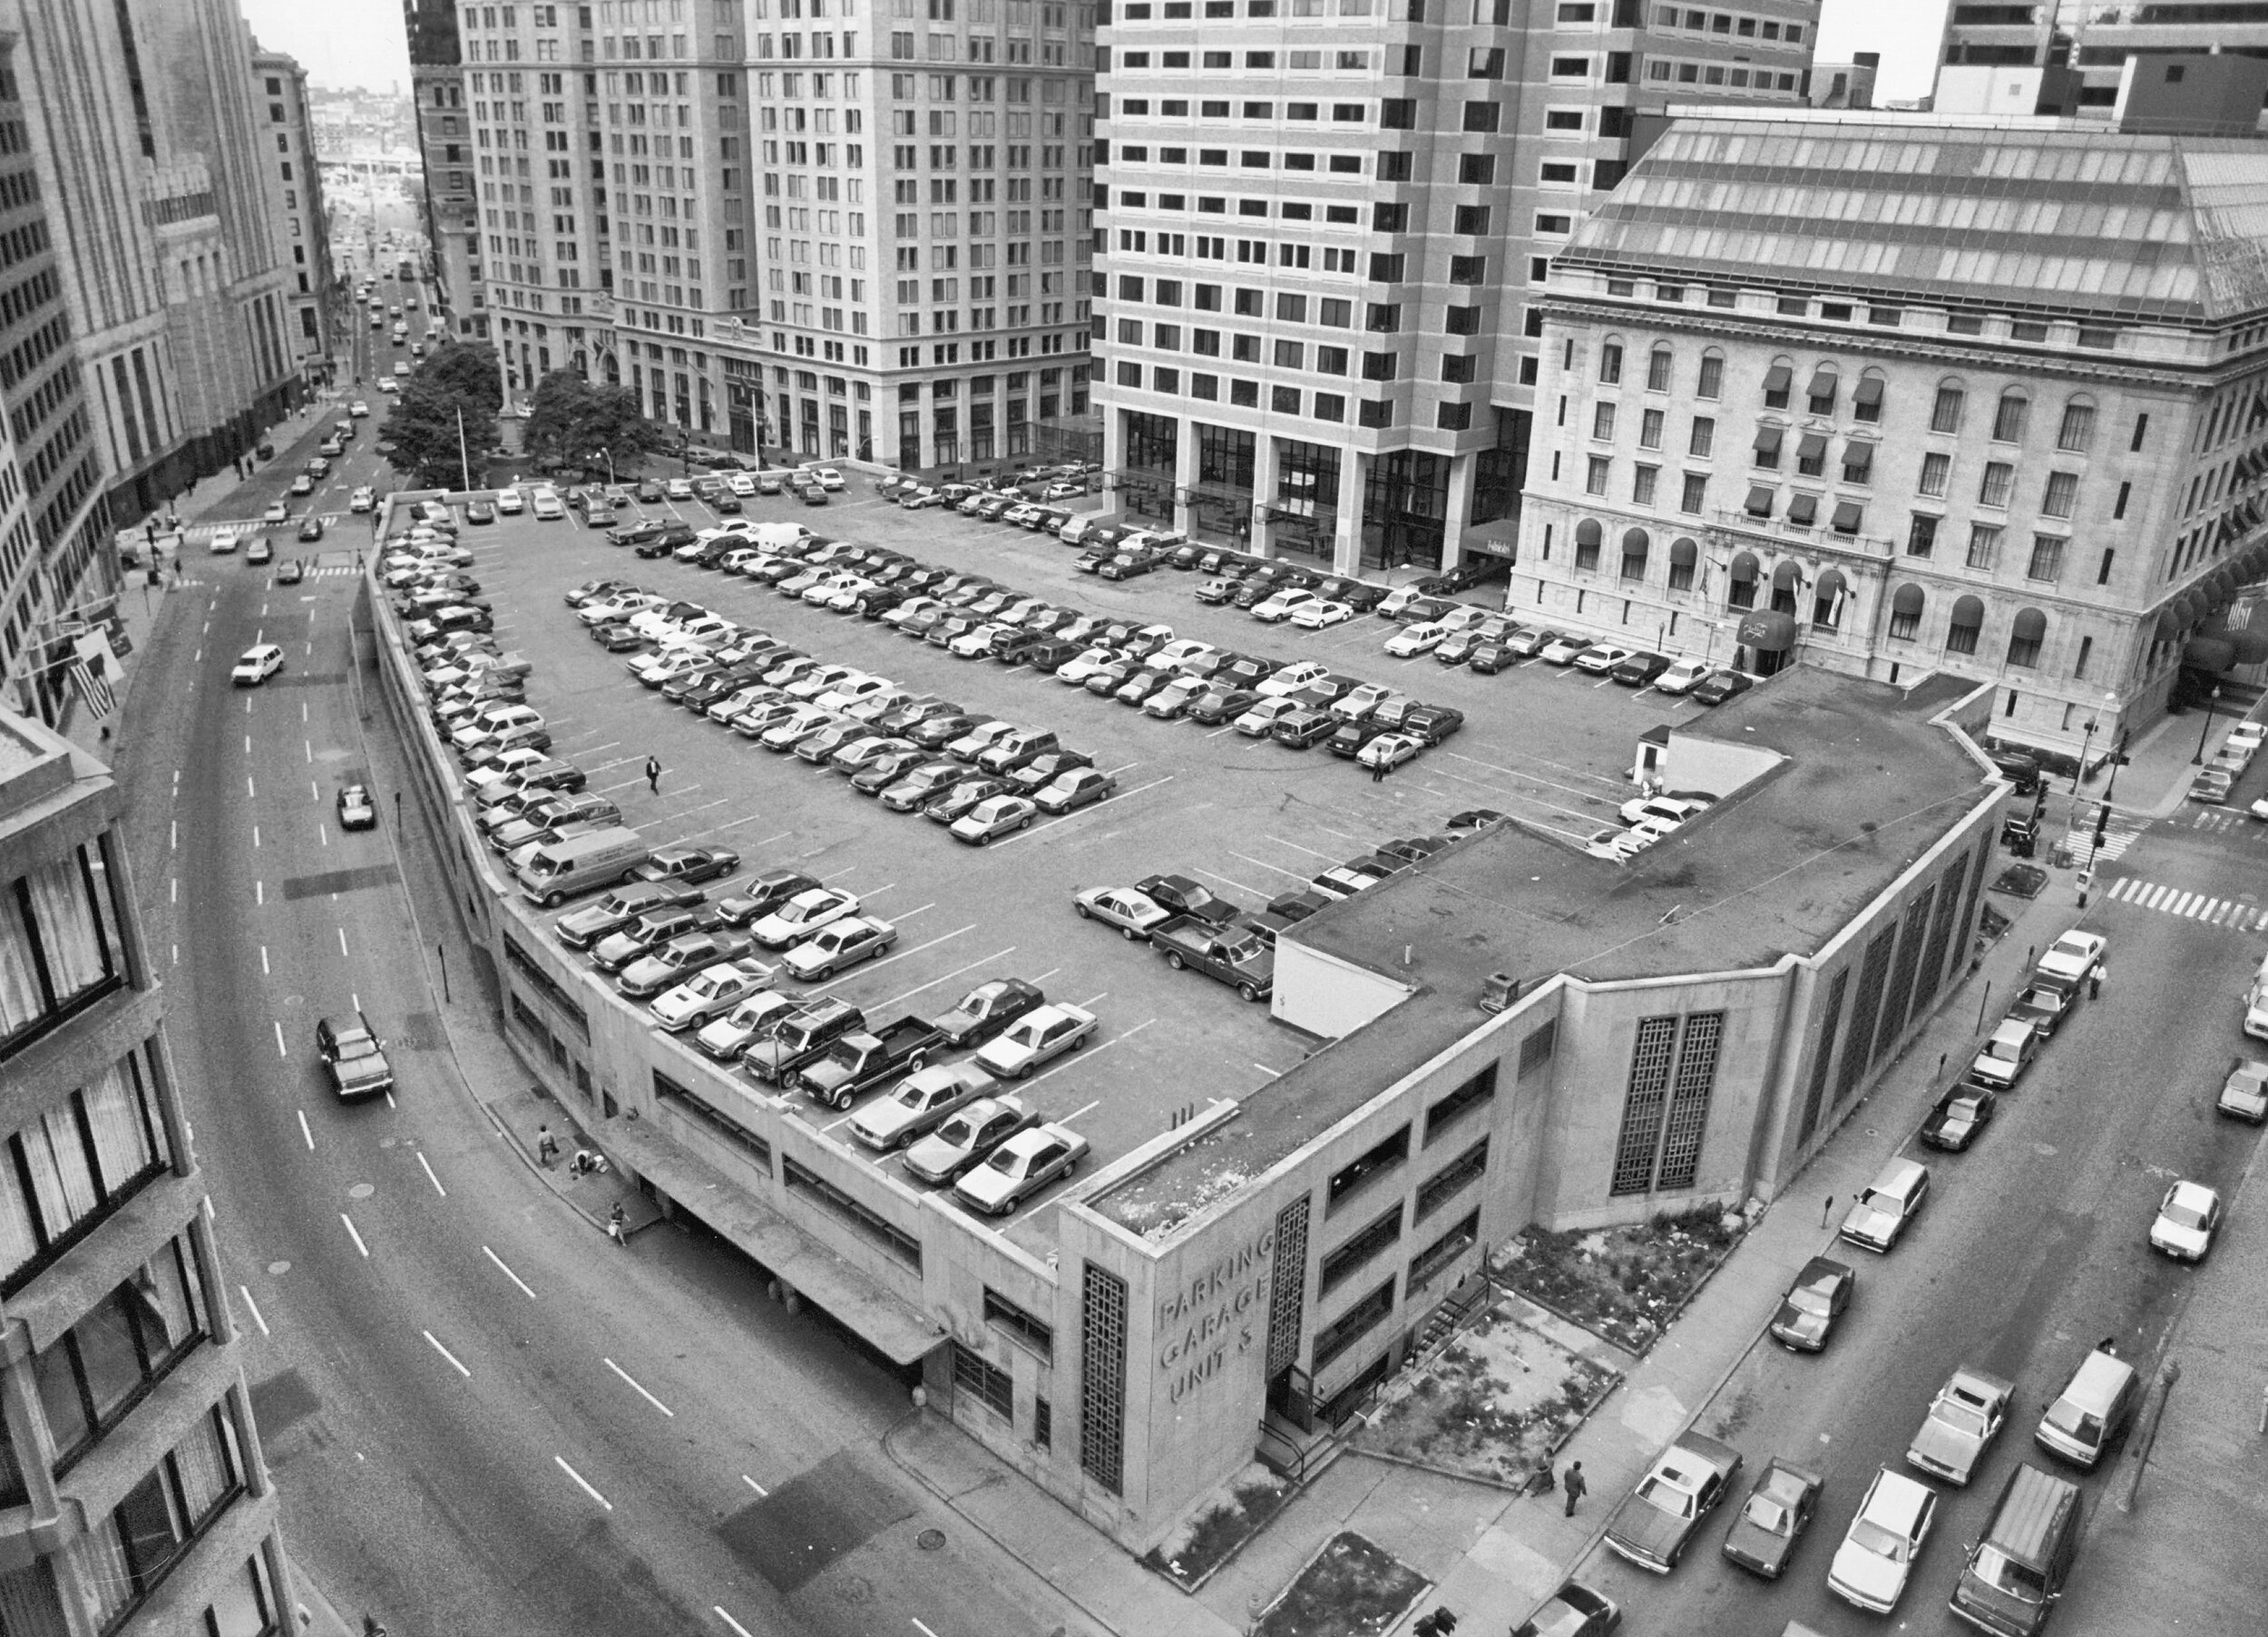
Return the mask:
[[136, 519], [299, 397], [252, 39], [234, 0], [0, 0], [0, 32], [111, 512]]

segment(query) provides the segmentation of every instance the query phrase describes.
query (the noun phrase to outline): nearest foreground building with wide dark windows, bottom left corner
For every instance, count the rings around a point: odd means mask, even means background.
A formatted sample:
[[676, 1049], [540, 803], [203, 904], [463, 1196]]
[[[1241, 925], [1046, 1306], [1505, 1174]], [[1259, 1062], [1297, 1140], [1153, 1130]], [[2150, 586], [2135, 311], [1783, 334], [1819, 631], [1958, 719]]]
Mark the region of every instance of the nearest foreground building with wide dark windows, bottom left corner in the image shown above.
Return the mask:
[[290, 1626], [277, 1494], [109, 769], [0, 714], [0, 1608]]

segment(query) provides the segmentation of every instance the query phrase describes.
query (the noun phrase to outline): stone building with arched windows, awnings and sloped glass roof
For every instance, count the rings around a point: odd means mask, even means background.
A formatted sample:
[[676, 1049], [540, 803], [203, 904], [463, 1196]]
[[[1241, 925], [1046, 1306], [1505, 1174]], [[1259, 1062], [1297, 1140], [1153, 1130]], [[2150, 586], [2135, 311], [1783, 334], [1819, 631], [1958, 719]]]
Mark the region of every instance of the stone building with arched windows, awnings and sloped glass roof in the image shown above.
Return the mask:
[[2148, 728], [2268, 574], [2263, 184], [2245, 141], [1676, 111], [1551, 263], [1506, 605]]

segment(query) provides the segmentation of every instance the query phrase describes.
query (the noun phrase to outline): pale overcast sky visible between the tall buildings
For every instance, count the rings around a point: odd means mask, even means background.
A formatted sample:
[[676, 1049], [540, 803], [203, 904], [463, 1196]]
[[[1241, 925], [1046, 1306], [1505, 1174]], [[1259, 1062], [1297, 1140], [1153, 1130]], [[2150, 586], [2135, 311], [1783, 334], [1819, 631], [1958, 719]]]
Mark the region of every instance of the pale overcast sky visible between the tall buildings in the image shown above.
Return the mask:
[[[299, 59], [327, 86], [408, 91], [411, 57], [401, 0], [238, 0], [261, 45]], [[1946, 0], [1826, 0], [1819, 59], [1882, 52], [1878, 97], [1919, 97], [1930, 88]]]

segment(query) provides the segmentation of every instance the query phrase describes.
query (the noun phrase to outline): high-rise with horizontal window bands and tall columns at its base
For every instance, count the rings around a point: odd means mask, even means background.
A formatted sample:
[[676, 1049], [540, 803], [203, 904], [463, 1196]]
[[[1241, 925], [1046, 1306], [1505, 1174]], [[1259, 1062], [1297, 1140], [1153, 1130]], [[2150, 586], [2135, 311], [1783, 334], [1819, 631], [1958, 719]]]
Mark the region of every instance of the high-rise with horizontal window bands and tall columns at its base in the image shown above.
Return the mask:
[[1118, 5], [1093, 326], [1118, 506], [1343, 574], [1508, 553], [1551, 254], [1622, 179], [1642, 113], [1801, 107], [1817, 18]]

